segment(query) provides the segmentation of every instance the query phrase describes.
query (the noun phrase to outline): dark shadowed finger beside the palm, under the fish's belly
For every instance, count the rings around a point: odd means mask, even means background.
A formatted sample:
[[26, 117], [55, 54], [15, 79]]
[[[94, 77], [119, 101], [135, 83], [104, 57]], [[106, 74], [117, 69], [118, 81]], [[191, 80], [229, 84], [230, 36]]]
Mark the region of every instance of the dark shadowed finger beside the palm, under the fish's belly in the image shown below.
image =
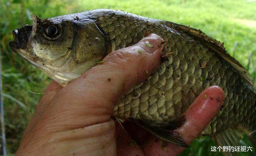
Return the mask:
[[144, 156], [140, 145], [129, 136], [121, 122], [115, 120], [115, 125], [116, 156]]

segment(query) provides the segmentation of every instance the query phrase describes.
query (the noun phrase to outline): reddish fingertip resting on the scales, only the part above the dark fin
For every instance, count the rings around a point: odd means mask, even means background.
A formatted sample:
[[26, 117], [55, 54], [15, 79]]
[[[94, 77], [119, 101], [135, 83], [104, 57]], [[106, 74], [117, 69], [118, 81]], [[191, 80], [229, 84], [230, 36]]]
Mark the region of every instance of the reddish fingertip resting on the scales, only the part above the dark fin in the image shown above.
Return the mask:
[[184, 113], [185, 124], [177, 132], [183, 136], [184, 142], [190, 144], [199, 136], [212, 118], [221, 108], [224, 91], [218, 86], [209, 87], [195, 100], [194, 104]]

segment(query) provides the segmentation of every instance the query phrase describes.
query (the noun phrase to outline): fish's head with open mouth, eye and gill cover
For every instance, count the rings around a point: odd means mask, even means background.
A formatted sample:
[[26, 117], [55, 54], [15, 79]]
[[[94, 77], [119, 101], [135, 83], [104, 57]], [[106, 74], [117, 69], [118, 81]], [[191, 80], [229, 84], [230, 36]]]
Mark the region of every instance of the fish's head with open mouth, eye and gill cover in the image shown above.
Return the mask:
[[95, 20], [64, 15], [32, 16], [33, 25], [13, 31], [9, 45], [25, 60], [65, 86], [101, 61], [111, 45]]

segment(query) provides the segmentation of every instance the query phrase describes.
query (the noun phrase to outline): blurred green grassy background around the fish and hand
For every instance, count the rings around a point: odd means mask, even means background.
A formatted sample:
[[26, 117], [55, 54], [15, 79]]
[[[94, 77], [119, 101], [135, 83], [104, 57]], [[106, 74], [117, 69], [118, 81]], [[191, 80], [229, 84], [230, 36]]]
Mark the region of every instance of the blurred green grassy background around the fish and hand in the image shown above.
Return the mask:
[[[6, 147], [15, 153], [35, 107], [50, 79], [9, 47], [12, 30], [32, 24], [32, 14], [50, 18], [92, 9], [118, 9], [201, 29], [224, 42], [256, 82], [256, 0], [0, 0], [0, 54]], [[241, 145], [252, 144], [245, 136]], [[222, 156], [209, 137], [196, 139], [181, 156]], [[253, 152], [241, 156], [256, 156]]]

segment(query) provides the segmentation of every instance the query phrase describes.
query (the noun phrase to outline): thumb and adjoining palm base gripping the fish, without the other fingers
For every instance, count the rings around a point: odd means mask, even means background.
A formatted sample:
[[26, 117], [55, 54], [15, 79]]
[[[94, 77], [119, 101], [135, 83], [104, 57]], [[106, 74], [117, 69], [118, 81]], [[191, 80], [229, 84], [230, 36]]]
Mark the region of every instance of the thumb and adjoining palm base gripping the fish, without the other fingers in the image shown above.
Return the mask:
[[162, 43], [163, 39], [151, 34], [133, 46], [113, 51], [104, 63], [60, 89], [17, 153], [114, 155], [114, 105], [160, 65]]

